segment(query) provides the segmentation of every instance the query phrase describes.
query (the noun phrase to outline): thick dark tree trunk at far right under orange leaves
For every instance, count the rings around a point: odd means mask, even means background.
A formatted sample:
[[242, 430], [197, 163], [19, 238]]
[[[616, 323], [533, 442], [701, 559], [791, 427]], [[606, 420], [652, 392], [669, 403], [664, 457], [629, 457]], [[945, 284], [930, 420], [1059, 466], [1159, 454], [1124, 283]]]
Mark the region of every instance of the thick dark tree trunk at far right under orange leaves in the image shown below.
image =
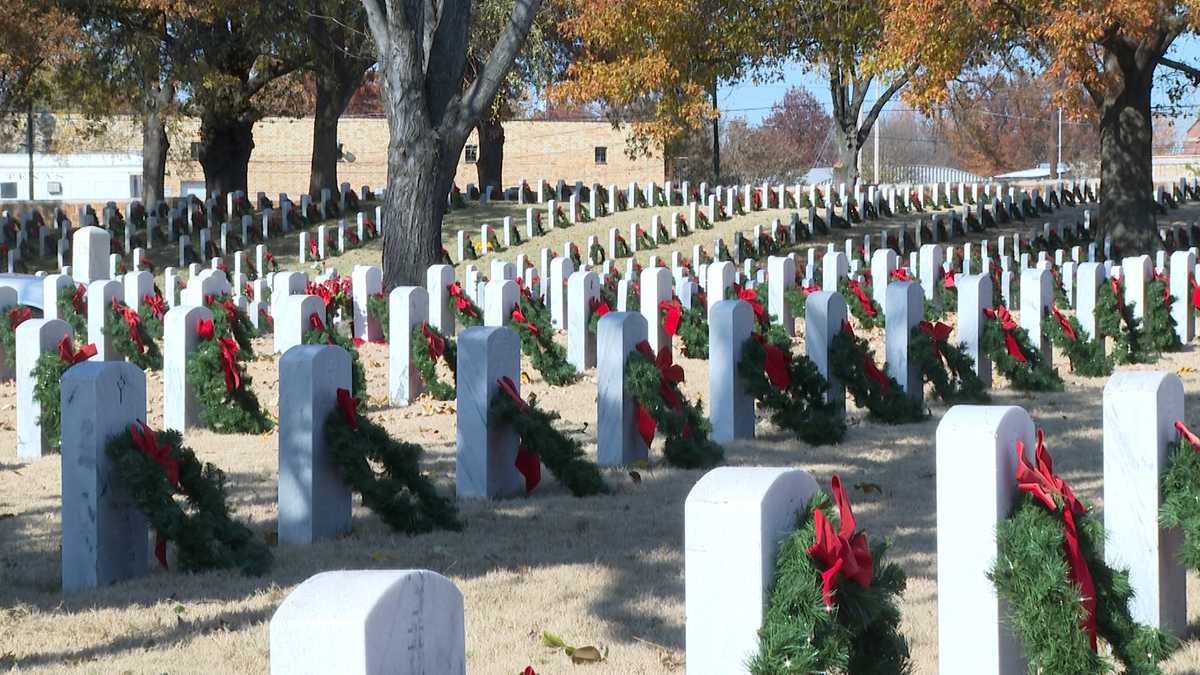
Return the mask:
[[[1141, 85], [1130, 84], [1142, 82]], [[1122, 255], [1160, 249], [1154, 220], [1150, 77], [1126, 77], [1100, 109], [1100, 233]]]

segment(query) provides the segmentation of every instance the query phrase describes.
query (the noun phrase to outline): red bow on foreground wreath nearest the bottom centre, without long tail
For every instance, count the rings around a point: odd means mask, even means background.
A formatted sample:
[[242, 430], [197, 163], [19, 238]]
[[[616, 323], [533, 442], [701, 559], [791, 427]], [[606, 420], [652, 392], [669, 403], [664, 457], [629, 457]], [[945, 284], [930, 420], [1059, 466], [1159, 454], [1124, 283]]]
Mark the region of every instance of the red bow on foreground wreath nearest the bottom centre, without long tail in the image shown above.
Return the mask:
[[834, 476], [830, 483], [833, 498], [838, 504], [838, 531], [834, 532], [823, 510], [815, 509], [812, 527], [816, 531], [816, 542], [808, 551], [826, 567], [821, 573], [821, 595], [826, 607], [833, 607], [833, 592], [838, 587], [839, 574], [866, 589], [871, 585], [871, 577], [875, 573], [866, 534], [854, 532], [858, 524], [854, 521], [854, 512], [850, 508], [850, 498], [841, 485], [841, 478]]

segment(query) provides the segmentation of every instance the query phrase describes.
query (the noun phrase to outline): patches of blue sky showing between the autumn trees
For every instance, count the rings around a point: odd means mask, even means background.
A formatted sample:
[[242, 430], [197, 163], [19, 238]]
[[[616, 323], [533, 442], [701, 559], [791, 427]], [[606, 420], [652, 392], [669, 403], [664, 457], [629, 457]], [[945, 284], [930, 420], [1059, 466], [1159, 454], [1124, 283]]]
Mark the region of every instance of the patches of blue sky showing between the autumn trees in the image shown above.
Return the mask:
[[[1177, 61], [1200, 66], [1200, 40], [1193, 36], [1180, 38], [1171, 46], [1168, 55]], [[1166, 70], [1165, 67], [1159, 67], [1159, 72]], [[721, 86], [718, 92], [718, 101], [724, 114], [742, 117], [751, 124], [757, 124], [770, 113], [770, 106], [792, 85], [805, 86], [818, 101], [827, 107], [829, 106], [829, 84], [826, 77], [820, 72], [805, 72], [804, 67], [799, 64], [786, 66], [784, 68], [784, 79], [780, 82]], [[868, 100], [874, 100], [874, 97]], [[1154, 103], [1166, 103], [1165, 86], [1157, 86], [1157, 83]], [[1200, 112], [1200, 92], [1192, 91], [1181, 103], [1184, 115], [1189, 118], [1195, 117]], [[906, 107], [902, 101], [893, 100], [884, 109], [902, 107]], [[1183, 126], [1186, 127], [1187, 125]]]

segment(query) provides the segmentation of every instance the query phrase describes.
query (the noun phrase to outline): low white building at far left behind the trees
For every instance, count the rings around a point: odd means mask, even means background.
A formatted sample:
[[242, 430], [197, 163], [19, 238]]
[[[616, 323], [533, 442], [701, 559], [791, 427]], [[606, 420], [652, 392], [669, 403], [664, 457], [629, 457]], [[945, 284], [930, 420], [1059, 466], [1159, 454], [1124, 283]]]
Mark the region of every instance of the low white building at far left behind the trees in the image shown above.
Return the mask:
[[[140, 196], [142, 155], [34, 155], [34, 199], [107, 202]], [[0, 154], [0, 203], [29, 198], [29, 155]]]

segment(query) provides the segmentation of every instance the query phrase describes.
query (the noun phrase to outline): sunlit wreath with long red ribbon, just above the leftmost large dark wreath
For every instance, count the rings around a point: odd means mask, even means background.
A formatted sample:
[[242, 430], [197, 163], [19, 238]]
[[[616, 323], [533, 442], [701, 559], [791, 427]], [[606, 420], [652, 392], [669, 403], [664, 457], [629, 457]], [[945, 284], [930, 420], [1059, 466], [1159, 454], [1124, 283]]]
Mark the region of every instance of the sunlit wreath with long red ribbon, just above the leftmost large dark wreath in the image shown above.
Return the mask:
[[246, 352], [222, 333], [216, 321], [202, 319], [196, 350], [187, 356], [187, 380], [200, 404], [200, 424], [217, 434], [265, 434], [271, 420], [251, 390], [242, 362]]

